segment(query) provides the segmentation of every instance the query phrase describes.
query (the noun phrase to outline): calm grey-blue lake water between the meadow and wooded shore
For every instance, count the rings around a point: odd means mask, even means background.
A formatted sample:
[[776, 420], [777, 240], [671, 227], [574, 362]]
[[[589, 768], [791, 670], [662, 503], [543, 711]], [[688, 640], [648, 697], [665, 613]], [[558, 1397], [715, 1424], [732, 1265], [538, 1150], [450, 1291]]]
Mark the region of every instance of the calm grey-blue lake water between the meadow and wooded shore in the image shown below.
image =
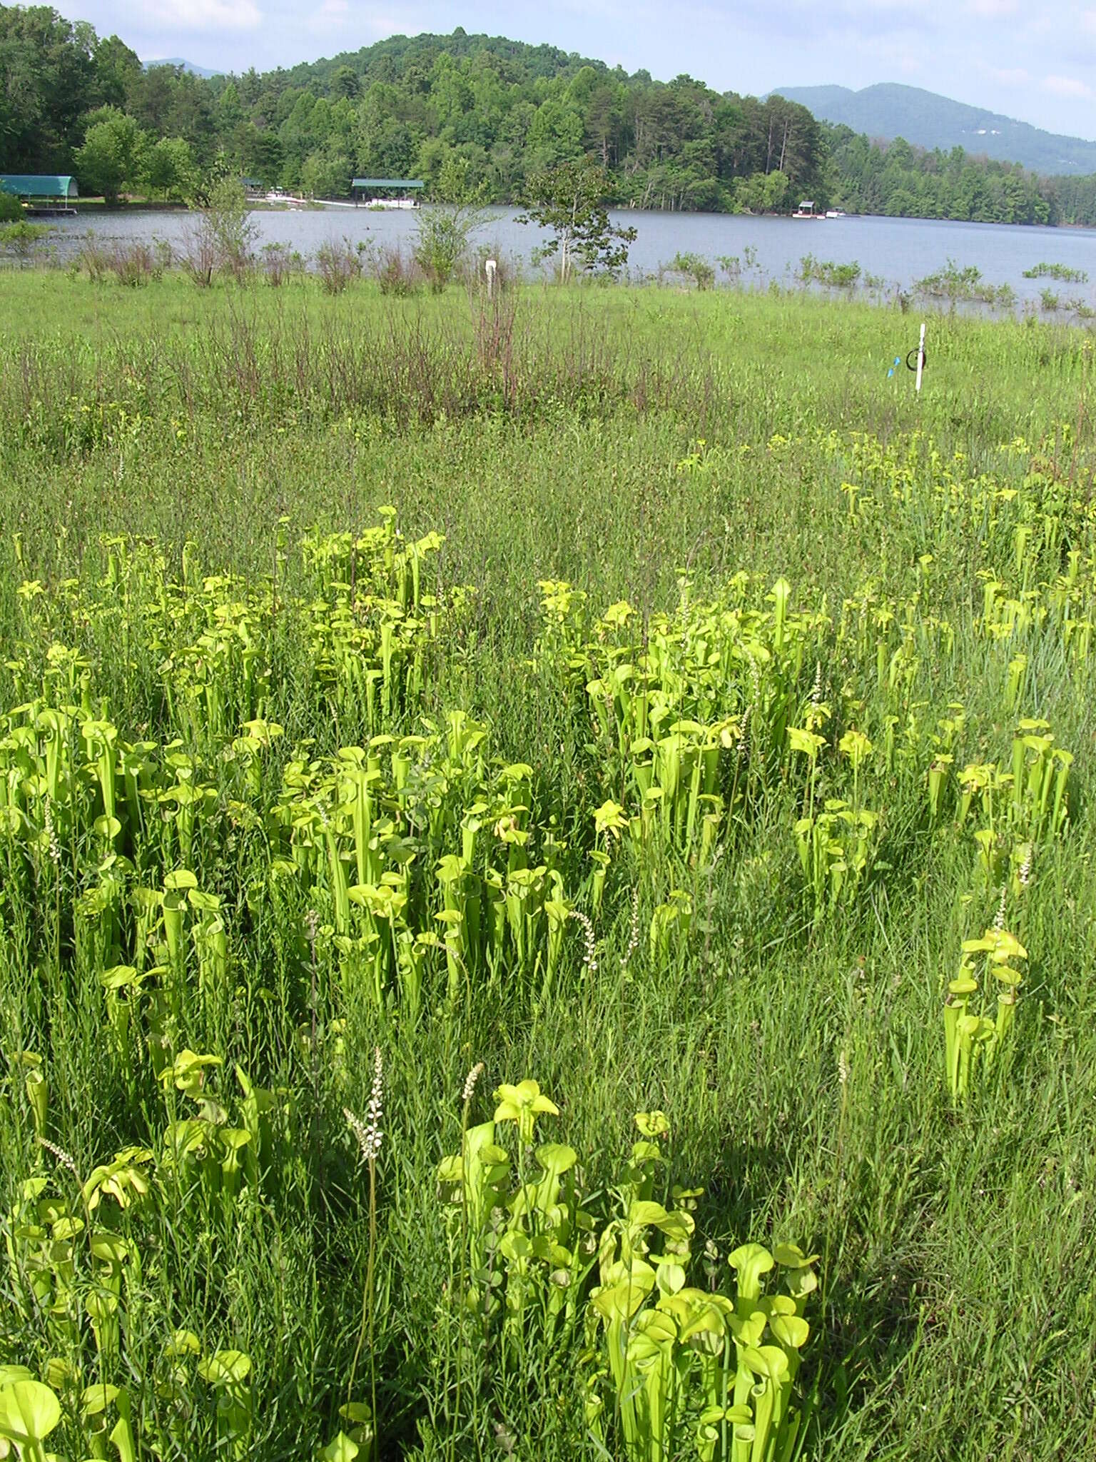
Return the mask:
[[[1038, 301], [1043, 288], [1064, 297], [1080, 295], [1093, 303], [1096, 285], [1096, 230], [1024, 228], [1010, 224], [957, 224], [915, 218], [843, 218], [814, 222], [792, 218], [750, 218], [734, 213], [644, 213], [611, 215], [631, 225], [637, 238], [628, 253], [633, 278], [656, 275], [675, 253], [701, 254], [710, 262], [720, 256], [742, 260], [742, 282], [792, 284], [804, 254], [834, 263], [859, 263], [865, 273], [886, 281], [888, 288], [907, 289], [915, 279], [953, 260], [959, 268], [975, 265], [988, 284], [1008, 284], [1021, 301]], [[411, 244], [416, 215], [412, 211], [373, 212], [364, 208], [326, 206], [321, 211], [256, 212], [251, 215], [259, 244], [282, 243], [311, 256], [327, 240], [348, 237], [373, 240], [377, 246]], [[478, 235], [482, 251], [494, 251], [529, 268], [529, 254], [544, 237], [533, 225], [516, 222], [514, 209], [491, 209]], [[54, 225], [53, 249], [61, 257], [79, 251], [89, 235], [102, 240], [162, 238], [181, 243], [189, 219], [183, 212], [86, 213]], [[747, 269], [747, 250], [756, 266]], [[1093, 284], [1059, 284], [1054, 279], [1024, 279], [1023, 270], [1038, 263], [1059, 263], [1083, 269]], [[720, 276], [725, 278], [725, 276]]]

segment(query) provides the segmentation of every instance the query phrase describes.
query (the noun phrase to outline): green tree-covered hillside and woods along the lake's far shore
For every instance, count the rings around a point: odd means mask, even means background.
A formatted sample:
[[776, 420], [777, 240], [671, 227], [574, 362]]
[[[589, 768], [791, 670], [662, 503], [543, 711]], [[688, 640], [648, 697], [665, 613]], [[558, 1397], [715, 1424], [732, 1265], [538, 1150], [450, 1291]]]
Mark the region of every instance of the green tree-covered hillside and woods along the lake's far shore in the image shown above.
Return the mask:
[[956, 148], [871, 143], [783, 96], [653, 80], [551, 45], [392, 37], [291, 70], [145, 70], [48, 7], [0, 6], [0, 170], [73, 171], [83, 194], [189, 199], [215, 170], [345, 196], [352, 175], [422, 177], [452, 158], [495, 202], [593, 156], [620, 206], [1096, 222], [1096, 177], [1045, 178]]

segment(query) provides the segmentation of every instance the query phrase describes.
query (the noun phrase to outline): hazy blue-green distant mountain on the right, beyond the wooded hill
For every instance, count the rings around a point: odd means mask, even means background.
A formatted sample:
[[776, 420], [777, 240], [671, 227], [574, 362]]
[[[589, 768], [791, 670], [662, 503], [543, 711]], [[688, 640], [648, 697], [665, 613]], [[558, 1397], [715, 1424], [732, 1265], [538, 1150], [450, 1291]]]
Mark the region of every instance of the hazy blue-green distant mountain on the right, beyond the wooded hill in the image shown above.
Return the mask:
[[770, 95], [796, 101], [815, 117], [867, 132], [869, 137], [905, 137], [919, 148], [963, 148], [998, 162], [1023, 162], [1043, 174], [1096, 173], [1096, 142], [1043, 132], [1014, 117], [969, 107], [950, 96], [880, 82], [862, 91], [848, 86], [775, 86]]

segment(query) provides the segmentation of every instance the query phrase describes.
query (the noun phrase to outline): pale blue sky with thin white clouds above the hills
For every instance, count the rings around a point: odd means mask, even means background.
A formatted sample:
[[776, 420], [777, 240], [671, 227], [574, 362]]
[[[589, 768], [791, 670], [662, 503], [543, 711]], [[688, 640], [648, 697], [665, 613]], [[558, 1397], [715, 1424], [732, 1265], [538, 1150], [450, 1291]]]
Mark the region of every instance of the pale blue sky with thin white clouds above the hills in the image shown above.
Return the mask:
[[61, 0], [142, 60], [269, 70], [357, 51], [387, 35], [547, 41], [716, 91], [905, 82], [1049, 132], [1096, 139], [1096, 0]]

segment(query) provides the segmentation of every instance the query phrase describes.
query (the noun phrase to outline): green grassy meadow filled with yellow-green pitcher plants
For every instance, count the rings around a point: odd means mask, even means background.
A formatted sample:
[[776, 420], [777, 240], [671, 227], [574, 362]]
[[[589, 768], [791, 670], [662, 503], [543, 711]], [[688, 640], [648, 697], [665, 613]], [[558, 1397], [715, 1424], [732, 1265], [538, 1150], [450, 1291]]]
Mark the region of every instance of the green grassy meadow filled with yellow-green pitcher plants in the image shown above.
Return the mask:
[[1090, 336], [4, 300], [10, 1455], [1093, 1455]]

